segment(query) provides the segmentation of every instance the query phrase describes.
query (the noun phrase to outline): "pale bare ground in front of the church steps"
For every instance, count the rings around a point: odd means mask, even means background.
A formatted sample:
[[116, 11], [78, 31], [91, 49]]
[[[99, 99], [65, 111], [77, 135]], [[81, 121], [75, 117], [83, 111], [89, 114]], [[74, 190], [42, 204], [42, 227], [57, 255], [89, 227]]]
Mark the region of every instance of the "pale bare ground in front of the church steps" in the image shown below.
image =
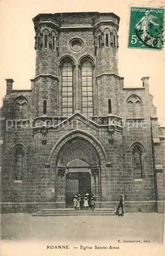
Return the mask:
[[150, 240], [163, 242], [164, 216], [131, 213], [117, 216], [32, 217], [2, 214], [1, 238], [6, 241]]

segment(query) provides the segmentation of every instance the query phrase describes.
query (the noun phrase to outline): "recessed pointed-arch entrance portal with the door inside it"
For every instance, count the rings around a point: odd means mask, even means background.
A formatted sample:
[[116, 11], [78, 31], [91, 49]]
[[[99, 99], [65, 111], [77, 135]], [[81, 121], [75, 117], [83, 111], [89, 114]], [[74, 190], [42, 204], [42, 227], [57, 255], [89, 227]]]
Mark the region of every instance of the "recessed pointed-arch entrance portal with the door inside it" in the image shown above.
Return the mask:
[[56, 201], [73, 204], [75, 195], [94, 195], [100, 201], [100, 161], [95, 146], [84, 138], [67, 141], [56, 165]]

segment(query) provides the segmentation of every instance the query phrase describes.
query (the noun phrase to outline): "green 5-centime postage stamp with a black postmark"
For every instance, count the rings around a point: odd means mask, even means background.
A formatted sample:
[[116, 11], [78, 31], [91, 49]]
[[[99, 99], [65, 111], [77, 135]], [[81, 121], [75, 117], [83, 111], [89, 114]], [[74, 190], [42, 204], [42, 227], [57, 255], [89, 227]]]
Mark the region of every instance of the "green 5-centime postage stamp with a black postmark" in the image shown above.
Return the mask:
[[164, 9], [130, 7], [128, 48], [161, 50]]

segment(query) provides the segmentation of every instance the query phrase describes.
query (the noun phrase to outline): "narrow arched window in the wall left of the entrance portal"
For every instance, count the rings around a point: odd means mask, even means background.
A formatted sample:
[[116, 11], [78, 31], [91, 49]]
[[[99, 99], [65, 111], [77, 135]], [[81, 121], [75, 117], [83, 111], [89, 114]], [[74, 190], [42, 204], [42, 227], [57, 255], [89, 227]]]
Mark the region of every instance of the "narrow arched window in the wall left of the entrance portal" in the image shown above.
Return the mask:
[[24, 149], [22, 146], [17, 146], [14, 151], [14, 169], [13, 179], [20, 181], [23, 179], [23, 168], [24, 168]]

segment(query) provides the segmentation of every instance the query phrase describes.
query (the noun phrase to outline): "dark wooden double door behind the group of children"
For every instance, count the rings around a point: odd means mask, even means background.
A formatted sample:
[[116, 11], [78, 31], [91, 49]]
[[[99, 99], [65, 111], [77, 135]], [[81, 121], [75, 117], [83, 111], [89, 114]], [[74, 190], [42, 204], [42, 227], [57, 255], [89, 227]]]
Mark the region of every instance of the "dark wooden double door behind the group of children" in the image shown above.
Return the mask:
[[90, 172], [70, 172], [66, 174], [66, 206], [73, 206], [75, 195], [91, 194]]

